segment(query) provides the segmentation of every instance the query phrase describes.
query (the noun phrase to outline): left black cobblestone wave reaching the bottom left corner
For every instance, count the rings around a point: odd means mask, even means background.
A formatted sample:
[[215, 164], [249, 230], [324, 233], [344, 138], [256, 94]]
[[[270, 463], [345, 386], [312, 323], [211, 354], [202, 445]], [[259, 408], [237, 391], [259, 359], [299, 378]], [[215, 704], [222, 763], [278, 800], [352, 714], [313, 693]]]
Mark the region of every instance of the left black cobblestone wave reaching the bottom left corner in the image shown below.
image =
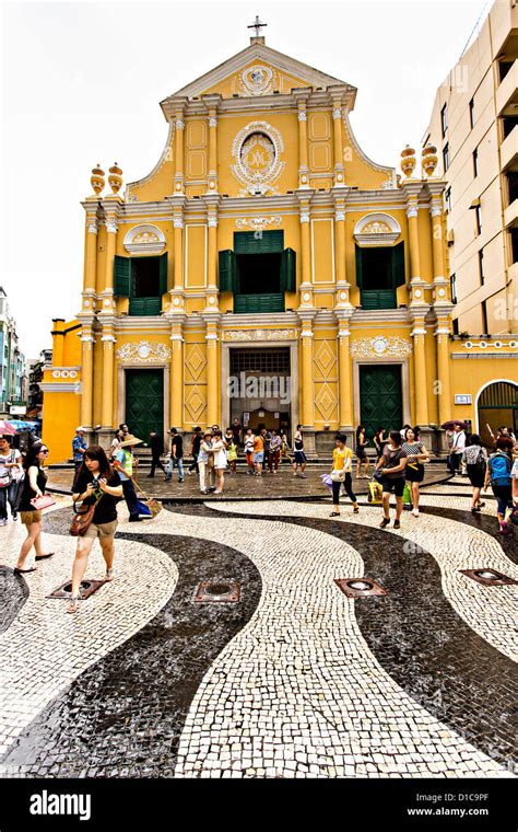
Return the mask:
[[[60, 513], [52, 512], [47, 532], [63, 533]], [[25, 766], [24, 776], [172, 777], [203, 675], [257, 608], [261, 578], [240, 552], [168, 534], [139, 533], [138, 540], [173, 558], [175, 592], [145, 627], [84, 671], [27, 727], [2, 760]], [[195, 605], [197, 586], [213, 577], [242, 581], [240, 602]]]

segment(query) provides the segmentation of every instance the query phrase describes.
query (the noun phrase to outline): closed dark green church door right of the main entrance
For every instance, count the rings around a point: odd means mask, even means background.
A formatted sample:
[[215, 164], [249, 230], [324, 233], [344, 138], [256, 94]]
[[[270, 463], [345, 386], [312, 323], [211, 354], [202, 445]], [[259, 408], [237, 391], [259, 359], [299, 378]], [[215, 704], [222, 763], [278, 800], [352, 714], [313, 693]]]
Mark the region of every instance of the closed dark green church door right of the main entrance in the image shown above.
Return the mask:
[[401, 366], [360, 367], [360, 406], [369, 439], [379, 427], [399, 430], [403, 425]]

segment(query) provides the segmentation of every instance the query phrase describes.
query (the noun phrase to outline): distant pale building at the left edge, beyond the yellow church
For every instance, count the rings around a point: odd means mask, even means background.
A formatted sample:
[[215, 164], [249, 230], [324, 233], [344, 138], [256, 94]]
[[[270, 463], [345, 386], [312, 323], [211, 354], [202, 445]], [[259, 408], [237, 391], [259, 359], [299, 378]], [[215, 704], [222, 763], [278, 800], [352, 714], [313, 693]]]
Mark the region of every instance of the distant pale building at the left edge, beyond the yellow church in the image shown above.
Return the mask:
[[0, 418], [25, 402], [25, 359], [20, 351], [16, 324], [9, 312], [8, 296], [0, 287]]

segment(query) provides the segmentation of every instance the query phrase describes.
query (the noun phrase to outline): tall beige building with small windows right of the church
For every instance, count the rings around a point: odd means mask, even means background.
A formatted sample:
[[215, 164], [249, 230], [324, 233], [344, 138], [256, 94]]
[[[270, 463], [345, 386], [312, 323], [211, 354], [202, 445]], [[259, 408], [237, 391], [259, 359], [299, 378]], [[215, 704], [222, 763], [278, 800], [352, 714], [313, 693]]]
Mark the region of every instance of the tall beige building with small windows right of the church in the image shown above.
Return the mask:
[[518, 7], [497, 0], [438, 88], [424, 136], [424, 145], [436, 146], [438, 170], [448, 183], [449, 275], [457, 297], [454, 328], [460, 334], [518, 332], [517, 58]]

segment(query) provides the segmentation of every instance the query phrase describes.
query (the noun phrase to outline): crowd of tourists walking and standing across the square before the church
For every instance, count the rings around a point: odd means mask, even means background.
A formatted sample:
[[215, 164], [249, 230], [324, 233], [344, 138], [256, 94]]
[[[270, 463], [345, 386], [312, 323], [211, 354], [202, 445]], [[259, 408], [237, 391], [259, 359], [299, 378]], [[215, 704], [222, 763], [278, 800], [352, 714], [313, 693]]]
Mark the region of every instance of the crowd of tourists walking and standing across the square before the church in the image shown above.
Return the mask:
[[[142, 440], [132, 436], [128, 425], [119, 425], [111, 444], [106, 452], [98, 444], [86, 443], [85, 430], [79, 427], [72, 442], [74, 460], [74, 479], [72, 495], [74, 508], [78, 506], [92, 509], [89, 523], [78, 535], [75, 558], [72, 567], [71, 593], [67, 604], [68, 612], [78, 610], [81, 582], [87, 566], [89, 555], [95, 540], [98, 539], [106, 564], [107, 581], [114, 579], [115, 532], [117, 529], [117, 502], [125, 499], [130, 522], [141, 522], [142, 502], [136, 492], [136, 473], [138, 460], [133, 449]], [[163, 471], [165, 481], [173, 478], [175, 469], [178, 482], [185, 479], [184, 439], [174, 427], [168, 431], [169, 455], [163, 462], [164, 443], [156, 431], [152, 430], [149, 444], [152, 464], [149, 477], [155, 476], [156, 469]], [[332, 492], [331, 517], [340, 516], [340, 496], [344, 493], [353, 505], [353, 512], [360, 512], [356, 495], [353, 490], [353, 460], [356, 457], [356, 479], [368, 478], [369, 494], [373, 502], [382, 507], [380, 527], [391, 522], [390, 498], [396, 498], [393, 528], [400, 528], [403, 501], [411, 505], [412, 515], [419, 517], [420, 483], [423, 482], [425, 465], [429, 460], [428, 451], [420, 438], [420, 428], [410, 425], [401, 430], [380, 427], [373, 439], [376, 452], [374, 471], [369, 476], [370, 461], [367, 457], [369, 440], [364, 425], [358, 425], [355, 437], [355, 454], [346, 446], [345, 435], [335, 437], [332, 466], [328, 485]], [[264, 473], [273, 476], [284, 460], [292, 465], [293, 475], [306, 477], [306, 454], [302, 425], [297, 425], [290, 448], [285, 432], [268, 430], [263, 427], [254, 431], [243, 429], [237, 419], [223, 431], [219, 425], [210, 429], [193, 429], [190, 437], [190, 463], [188, 474], [197, 475], [202, 494], [223, 494], [225, 476], [236, 473], [239, 454], [244, 454], [246, 473], [261, 477]], [[292, 455], [293, 452], [293, 455]], [[42, 540], [42, 509], [54, 500], [46, 495], [47, 474], [45, 463], [48, 448], [42, 441], [34, 441], [24, 454], [11, 447], [10, 438], [0, 436], [0, 525], [8, 522], [8, 506], [12, 520], [20, 519], [26, 528], [14, 573], [24, 575], [36, 570], [36, 566], [26, 566], [27, 557], [34, 548], [35, 563], [54, 555], [46, 552]], [[452, 427], [448, 469], [464, 474], [473, 488], [471, 511], [478, 515], [484, 506], [481, 499], [483, 490], [490, 485], [496, 498], [496, 513], [502, 534], [508, 534], [510, 522], [516, 518], [518, 507], [518, 442], [509, 428], [498, 428], [492, 434], [492, 447], [484, 447], [478, 434], [467, 435], [463, 426]], [[363, 471], [363, 473], [362, 473]], [[139, 488], [139, 486], [137, 486]], [[48, 502], [46, 504], [46, 500]]]

